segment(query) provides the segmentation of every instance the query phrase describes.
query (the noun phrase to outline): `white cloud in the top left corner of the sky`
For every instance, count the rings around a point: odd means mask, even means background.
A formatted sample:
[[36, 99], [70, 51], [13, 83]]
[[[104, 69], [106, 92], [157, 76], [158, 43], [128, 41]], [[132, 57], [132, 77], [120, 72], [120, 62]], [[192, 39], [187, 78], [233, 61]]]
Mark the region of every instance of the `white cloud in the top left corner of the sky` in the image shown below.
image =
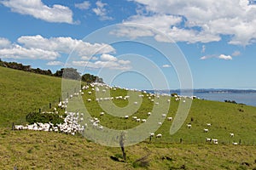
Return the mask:
[[11, 11], [15, 13], [29, 14], [34, 18], [48, 22], [73, 24], [72, 10], [59, 4], [49, 7], [42, 3], [41, 0], [3, 0], [0, 3], [11, 8]]

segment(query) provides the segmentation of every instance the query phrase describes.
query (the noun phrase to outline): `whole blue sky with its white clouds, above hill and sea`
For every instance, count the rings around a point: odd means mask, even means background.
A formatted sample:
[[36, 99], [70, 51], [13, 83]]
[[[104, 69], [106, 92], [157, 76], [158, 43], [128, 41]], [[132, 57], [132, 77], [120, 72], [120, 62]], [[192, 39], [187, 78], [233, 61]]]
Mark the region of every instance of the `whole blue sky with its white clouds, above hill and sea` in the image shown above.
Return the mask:
[[189, 71], [193, 88], [256, 88], [255, 3], [0, 0], [0, 58], [126, 88], [181, 88]]

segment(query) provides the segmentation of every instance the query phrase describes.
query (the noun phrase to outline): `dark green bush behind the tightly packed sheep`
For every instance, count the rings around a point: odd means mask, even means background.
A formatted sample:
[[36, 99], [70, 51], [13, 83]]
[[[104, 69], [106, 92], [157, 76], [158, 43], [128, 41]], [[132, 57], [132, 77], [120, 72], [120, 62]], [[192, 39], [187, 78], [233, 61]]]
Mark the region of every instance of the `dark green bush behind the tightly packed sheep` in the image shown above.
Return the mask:
[[26, 115], [26, 122], [28, 122], [29, 124], [35, 122], [51, 122], [56, 125], [56, 123], [63, 123], [64, 120], [57, 114], [32, 112]]

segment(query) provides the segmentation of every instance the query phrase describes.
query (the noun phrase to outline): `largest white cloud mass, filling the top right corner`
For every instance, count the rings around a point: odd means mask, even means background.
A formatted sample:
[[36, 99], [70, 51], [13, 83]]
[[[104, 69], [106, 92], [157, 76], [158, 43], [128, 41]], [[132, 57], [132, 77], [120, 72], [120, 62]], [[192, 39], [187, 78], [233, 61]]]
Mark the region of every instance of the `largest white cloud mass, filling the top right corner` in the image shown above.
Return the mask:
[[[133, 16], [129, 22], [136, 22], [160, 28], [177, 42], [214, 42], [221, 36], [230, 36], [230, 44], [247, 45], [256, 42], [256, 6], [248, 0], [133, 0], [143, 7], [144, 14]], [[142, 10], [140, 10], [142, 11]], [[148, 16], [149, 14], [149, 16]], [[168, 23], [162, 17], [157, 24], [145, 23], [158, 16], [183, 17], [182, 22]], [[125, 21], [125, 22], [126, 22]], [[176, 26], [178, 25], [178, 26]], [[176, 26], [173, 29], [173, 26]]]

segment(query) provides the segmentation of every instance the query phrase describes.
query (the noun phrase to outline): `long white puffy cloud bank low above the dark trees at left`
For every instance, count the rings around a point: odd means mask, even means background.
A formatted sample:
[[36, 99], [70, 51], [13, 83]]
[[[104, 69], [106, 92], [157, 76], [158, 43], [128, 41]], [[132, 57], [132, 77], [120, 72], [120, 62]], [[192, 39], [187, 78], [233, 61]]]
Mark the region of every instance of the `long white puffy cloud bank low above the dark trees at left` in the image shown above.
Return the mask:
[[84, 56], [114, 53], [115, 49], [108, 44], [83, 42], [72, 37], [22, 36], [13, 43], [5, 38], [0, 39], [0, 55], [3, 58], [56, 59], [72, 51], [85, 59]]

